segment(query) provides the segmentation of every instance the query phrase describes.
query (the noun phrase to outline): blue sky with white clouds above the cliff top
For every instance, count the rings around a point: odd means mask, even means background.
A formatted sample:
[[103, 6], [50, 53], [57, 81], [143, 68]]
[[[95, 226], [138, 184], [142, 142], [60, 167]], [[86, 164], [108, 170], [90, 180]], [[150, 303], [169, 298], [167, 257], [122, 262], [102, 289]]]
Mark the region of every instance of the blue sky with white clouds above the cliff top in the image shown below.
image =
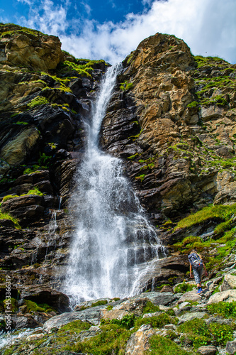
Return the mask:
[[113, 64], [161, 32], [184, 39], [193, 55], [236, 62], [235, 0], [1, 0], [0, 21], [58, 35], [77, 58]]

